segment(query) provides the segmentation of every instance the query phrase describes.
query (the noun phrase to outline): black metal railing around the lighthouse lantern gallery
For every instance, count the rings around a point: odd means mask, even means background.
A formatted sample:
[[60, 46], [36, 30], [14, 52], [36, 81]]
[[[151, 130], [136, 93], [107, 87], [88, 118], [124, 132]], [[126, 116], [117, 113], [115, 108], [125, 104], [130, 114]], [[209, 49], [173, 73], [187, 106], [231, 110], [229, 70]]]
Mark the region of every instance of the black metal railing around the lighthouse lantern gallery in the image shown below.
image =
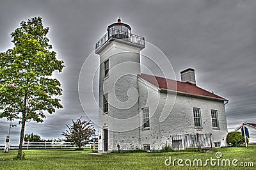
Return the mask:
[[102, 38], [100, 38], [99, 42], [95, 44], [95, 50], [98, 50], [102, 45], [108, 42], [110, 39], [117, 40], [122, 39], [127, 42], [135, 43], [137, 45], [144, 46], [145, 38], [138, 35], [133, 35], [132, 33], [127, 33], [124, 31], [120, 31], [118, 29], [109, 29], [108, 33], [106, 33]]

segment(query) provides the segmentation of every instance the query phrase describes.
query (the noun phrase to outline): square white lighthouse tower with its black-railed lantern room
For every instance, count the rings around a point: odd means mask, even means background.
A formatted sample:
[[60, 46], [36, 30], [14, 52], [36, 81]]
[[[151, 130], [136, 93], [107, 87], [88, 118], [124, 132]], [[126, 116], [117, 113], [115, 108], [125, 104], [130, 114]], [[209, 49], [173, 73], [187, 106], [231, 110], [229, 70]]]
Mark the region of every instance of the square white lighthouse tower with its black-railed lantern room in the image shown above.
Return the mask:
[[121, 19], [107, 31], [95, 45], [100, 56], [98, 151], [132, 150], [140, 147], [137, 75], [145, 40]]

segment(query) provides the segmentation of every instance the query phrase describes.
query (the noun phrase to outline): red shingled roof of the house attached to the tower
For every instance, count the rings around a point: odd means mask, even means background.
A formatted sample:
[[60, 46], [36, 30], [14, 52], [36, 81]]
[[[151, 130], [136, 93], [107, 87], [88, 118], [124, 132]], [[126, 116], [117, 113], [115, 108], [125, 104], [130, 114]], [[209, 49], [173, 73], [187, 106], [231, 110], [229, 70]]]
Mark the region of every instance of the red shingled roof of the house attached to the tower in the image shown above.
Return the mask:
[[[199, 88], [198, 86], [190, 82], [174, 81], [171, 79], [165, 79], [163, 77], [157, 77], [157, 76], [148, 75], [144, 73], [138, 74], [138, 76], [144, 79], [145, 81], [148, 81], [151, 84], [154, 84], [154, 86], [160, 89], [169, 89], [169, 90], [178, 91], [182, 93], [188, 93], [191, 95], [212, 97], [212, 98], [217, 98], [220, 100], [227, 101], [227, 99], [220, 97], [218, 95], [214, 95], [211, 92], [206, 91], [205, 89]], [[176, 89], [176, 83], [177, 83], [177, 89]]]

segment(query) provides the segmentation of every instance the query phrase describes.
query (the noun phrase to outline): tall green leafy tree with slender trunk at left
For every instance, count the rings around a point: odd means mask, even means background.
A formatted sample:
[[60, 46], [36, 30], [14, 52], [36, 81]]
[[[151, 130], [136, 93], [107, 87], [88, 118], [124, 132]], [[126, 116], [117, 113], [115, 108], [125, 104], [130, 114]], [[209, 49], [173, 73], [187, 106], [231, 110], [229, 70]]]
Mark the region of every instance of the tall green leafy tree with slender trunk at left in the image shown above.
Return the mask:
[[41, 17], [23, 21], [11, 33], [13, 49], [0, 53], [0, 118], [20, 120], [19, 159], [26, 121], [43, 122], [46, 112], [63, 107], [56, 98], [62, 93], [61, 84], [51, 75], [64, 65], [51, 50], [48, 32]]

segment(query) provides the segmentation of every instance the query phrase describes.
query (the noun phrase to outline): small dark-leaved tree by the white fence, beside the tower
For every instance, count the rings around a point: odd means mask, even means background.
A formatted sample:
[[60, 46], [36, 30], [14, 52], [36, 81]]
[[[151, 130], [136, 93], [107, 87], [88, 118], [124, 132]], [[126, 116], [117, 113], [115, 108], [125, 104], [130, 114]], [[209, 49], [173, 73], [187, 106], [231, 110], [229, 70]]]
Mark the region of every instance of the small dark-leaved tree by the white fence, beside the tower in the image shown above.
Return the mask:
[[68, 142], [72, 142], [79, 149], [85, 143], [88, 143], [89, 137], [95, 133], [93, 123], [86, 120], [81, 121], [81, 118], [77, 119], [77, 121], [72, 120], [73, 125], [66, 124], [68, 129], [62, 133]]

